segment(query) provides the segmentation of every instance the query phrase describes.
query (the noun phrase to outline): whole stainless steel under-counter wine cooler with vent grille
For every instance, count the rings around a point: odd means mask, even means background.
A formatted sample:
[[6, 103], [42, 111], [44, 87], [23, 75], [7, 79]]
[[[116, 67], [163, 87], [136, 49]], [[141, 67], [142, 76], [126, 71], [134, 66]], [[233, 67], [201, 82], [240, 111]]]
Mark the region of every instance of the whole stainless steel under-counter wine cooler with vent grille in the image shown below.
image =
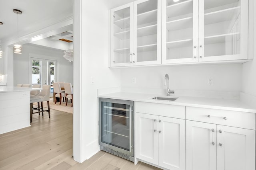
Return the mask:
[[99, 98], [100, 149], [134, 162], [134, 101]]

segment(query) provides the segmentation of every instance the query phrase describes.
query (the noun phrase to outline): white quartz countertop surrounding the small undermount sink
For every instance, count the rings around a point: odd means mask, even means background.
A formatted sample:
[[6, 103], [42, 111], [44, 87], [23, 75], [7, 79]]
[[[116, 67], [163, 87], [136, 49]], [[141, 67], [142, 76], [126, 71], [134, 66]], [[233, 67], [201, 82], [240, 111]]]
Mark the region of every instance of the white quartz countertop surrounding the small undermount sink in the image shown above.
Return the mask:
[[256, 106], [249, 106], [240, 100], [229, 100], [229, 99], [217, 99], [217, 98], [200, 98], [200, 97], [186, 97], [186, 96], [170, 96], [178, 97], [175, 101], [169, 100], [155, 100], [154, 97], [168, 97], [160, 96], [157, 94], [140, 94], [140, 93], [128, 93], [128, 92], [117, 92], [111, 94], [102, 94], [99, 98], [110, 98], [119, 100], [132, 100], [136, 102], [150, 102], [160, 104], [171, 104], [180, 106], [191, 106], [191, 107], [203, 107], [211, 109], [224, 109], [232, 111], [243, 111], [256, 113]]

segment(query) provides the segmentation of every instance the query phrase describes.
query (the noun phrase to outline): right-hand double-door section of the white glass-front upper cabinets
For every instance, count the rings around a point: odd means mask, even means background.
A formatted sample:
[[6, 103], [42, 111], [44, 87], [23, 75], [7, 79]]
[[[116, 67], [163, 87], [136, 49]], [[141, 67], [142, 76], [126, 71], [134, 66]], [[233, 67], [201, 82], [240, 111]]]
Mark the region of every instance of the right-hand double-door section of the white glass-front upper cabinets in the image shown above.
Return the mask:
[[248, 59], [248, 0], [163, 0], [162, 63]]

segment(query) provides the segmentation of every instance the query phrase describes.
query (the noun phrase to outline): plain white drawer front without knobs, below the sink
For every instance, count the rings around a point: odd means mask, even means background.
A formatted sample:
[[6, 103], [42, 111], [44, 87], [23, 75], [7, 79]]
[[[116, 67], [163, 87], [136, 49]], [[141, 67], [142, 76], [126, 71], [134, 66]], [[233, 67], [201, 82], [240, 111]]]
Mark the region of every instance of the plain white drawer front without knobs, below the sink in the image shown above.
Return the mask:
[[186, 107], [169, 104], [136, 102], [136, 112], [185, 119]]

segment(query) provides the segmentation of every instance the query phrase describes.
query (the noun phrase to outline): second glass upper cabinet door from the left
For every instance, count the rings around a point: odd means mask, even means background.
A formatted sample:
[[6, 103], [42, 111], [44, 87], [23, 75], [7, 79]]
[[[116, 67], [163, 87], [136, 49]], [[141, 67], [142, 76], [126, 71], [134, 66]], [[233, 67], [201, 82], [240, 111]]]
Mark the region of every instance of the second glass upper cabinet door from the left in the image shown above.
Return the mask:
[[161, 0], [134, 2], [134, 65], [161, 63]]

